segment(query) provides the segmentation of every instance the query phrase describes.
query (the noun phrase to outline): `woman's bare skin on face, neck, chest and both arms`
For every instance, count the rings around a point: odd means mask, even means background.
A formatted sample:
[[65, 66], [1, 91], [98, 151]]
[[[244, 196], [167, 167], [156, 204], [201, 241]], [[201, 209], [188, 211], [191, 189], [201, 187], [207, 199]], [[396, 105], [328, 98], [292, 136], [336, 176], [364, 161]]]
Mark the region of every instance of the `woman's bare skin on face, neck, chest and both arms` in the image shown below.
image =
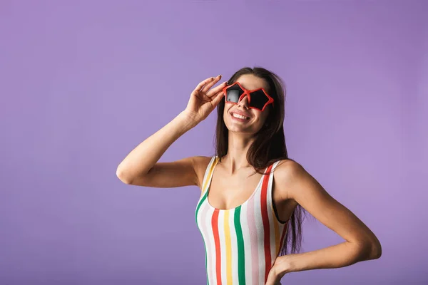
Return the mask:
[[[200, 82], [190, 94], [185, 110], [125, 157], [116, 170], [122, 182], [146, 187], [195, 185], [201, 188], [211, 157], [185, 157], [174, 162], [158, 160], [175, 140], [205, 120], [220, 100], [224, 100], [222, 88], [225, 83], [212, 88], [220, 78], [207, 78]], [[237, 81], [249, 90], [267, 87], [262, 78], [253, 75], [241, 76]], [[231, 115], [234, 111], [245, 113], [250, 120], [235, 120]], [[269, 109], [261, 112], [248, 108], [246, 96], [236, 105], [225, 103], [223, 118], [229, 130], [228, 154], [213, 173], [208, 197], [213, 207], [237, 207], [255, 190], [261, 175], [250, 176], [254, 168], [246, 160], [246, 154], [255, 133], [263, 128], [268, 112]], [[297, 204], [300, 204], [345, 242], [312, 252], [277, 257], [266, 285], [280, 284], [282, 276], [292, 271], [337, 268], [381, 256], [382, 248], [373, 232], [355, 214], [331, 197], [302, 165], [292, 160], [282, 160], [273, 175], [272, 198], [281, 221], [289, 219]]]

